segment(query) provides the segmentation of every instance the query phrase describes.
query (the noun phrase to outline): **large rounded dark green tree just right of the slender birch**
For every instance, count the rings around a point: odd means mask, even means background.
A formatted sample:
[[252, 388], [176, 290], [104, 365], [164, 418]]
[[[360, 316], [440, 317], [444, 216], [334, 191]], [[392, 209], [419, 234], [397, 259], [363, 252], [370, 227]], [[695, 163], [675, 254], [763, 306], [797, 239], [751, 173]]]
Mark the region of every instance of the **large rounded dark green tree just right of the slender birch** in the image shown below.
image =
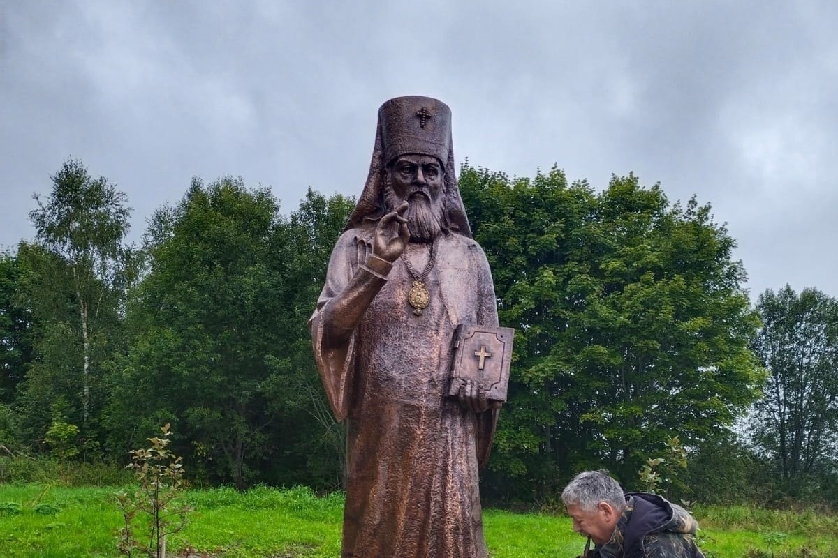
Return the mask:
[[[195, 473], [240, 487], [267, 456], [262, 382], [266, 355], [282, 347], [282, 222], [266, 188], [194, 179], [178, 207], [147, 235], [151, 267], [129, 305], [134, 336], [115, 377], [111, 424], [178, 418]], [[142, 397], [139, 397], [142, 394]], [[136, 418], [134, 418], [136, 417]], [[127, 441], [123, 442], [127, 443]]]

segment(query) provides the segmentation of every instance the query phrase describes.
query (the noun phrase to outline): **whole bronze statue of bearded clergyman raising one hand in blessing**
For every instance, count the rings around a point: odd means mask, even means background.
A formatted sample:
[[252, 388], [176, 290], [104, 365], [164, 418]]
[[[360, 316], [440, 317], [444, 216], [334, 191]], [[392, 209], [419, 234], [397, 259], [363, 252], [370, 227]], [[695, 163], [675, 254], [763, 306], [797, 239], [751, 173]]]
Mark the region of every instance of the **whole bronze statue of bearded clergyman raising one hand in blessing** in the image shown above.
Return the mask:
[[[458, 325], [491, 330], [498, 314], [457, 187], [451, 111], [399, 97], [379, 110], [370, 174], [309, 322], [348, 420], [344, 558], [487, 555], [478, 467], [500, 402], [477, 381], [451, 387]], [[480, 373], [493, 351], [473, 351]]]

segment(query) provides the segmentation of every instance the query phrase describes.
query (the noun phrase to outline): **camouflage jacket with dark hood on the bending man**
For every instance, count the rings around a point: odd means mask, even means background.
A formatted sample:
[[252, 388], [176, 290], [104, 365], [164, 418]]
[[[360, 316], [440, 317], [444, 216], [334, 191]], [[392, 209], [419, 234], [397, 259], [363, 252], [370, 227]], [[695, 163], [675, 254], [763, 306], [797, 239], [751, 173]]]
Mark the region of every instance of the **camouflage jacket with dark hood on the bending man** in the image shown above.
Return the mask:
[[696, 545], [698, 523], [689, 512], [656, 494], [626, 494], [626, 509], [611, 540], [597, 545], [602, 558], [704, 558]]

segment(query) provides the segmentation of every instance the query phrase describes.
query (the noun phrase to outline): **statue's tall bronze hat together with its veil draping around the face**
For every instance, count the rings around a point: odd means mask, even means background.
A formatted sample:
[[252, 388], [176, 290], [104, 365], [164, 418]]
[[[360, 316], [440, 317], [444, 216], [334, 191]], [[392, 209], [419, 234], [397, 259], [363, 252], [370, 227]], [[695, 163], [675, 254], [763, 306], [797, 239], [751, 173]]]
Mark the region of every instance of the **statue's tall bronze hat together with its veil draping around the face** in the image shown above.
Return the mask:
[[443, 212], [445, 226], [471, 237], [463, 199], [454, 172], [451, 141], [451, 109], [441, 100], [430, 97], [396, 97], [378, 110], [378, 127], [370, 161], [370, 174], [346, 229], [362, 227], [384, 216], [384, 172], [397, 156], [413, 153], [434, 156], [445, 174]]

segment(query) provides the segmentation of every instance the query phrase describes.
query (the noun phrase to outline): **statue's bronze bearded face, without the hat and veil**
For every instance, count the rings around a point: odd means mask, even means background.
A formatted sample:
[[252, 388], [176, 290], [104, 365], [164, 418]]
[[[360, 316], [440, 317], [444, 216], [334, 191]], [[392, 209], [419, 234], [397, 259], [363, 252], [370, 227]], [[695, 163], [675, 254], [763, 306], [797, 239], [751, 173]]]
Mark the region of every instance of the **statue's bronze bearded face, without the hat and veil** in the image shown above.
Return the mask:
[[411, 239], [428, 242], [442, 230], [442, 193], [445, 175], [433, 156], [408, 153], [397, 156], [386, 168], [385, 203], [392, 211], [407, 202], [407, 228]]

